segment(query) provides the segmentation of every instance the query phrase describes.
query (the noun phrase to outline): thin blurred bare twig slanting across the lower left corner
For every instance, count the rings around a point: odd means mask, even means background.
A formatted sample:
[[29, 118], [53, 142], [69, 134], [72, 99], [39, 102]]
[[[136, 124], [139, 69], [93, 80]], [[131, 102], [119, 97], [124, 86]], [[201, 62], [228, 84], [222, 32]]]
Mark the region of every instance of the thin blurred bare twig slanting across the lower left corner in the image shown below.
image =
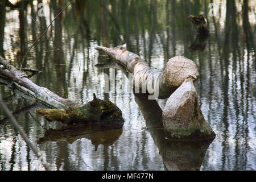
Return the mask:
[[[13, 123], [15, 129], [19, 131], [20, 135], [22, 135], [24, 140], [27, 142], [28, 146], [30, 146], [31, 150], [35, 153], [36, 157], [39, 159], [40, 158], [39, 151], [34, 146], [34, 144], [30, 141], [30, 139], [28, 139], [27, 134], [25, 133], [25, 131], [19, 126], [19, 123], [16, 121], [16, 119], [13, 116], [13, 114], [11, 114], [10, 110], [8, 109], [8, 107], [3, 102], [3, 98], [2, 98], [2, 94], [1, 93], [0, 93], [0, 106], [2, 107], [3, 111], [5, 111], [5, 114], [10, 119], [10, 121]], [[51, 168], [47, 164], [43, 163], [43, 166], [44, 166], [44, 168], [47, 171], [51, 171]]]

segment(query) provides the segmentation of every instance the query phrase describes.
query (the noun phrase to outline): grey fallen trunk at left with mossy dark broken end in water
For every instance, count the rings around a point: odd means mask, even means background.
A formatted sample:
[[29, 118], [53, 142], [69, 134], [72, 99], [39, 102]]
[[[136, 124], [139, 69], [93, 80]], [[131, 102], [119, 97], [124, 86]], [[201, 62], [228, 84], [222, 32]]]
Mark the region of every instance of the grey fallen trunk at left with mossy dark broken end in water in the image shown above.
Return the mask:
[[15, 88], [22, 93], [33, 97], [35, 100], [56, 109], [38, 109], [38, 114], [46, 117], [48, 121], [60, 121], [67, 124], [84, 122], [117, 122], [123, 123], [122, 112], [110, 101], [104, 101], [96, 98], [93, 94], [93, 101], [85, 105], [69, 101], [57, 96], [47, 88], [40, 87], [27, 78], [26, 73], [16, 69], [13, 65], [0, 56], [1, 76], [5, 81], [13, 82]]

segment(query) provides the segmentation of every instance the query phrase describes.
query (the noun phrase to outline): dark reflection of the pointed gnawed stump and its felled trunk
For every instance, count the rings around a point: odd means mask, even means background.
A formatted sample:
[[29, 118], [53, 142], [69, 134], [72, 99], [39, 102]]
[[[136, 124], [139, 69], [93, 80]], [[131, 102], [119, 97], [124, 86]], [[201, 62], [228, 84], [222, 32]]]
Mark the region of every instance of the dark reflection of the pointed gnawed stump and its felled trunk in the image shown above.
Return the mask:
[[[146, 121], [146, 126], [162, 156], [164, 169], [199, 170], [213, 139], [200, 141], [175, 141], [165, 138], [162, 109], [155, 100], [147, 100], [145, 94], [135, 94], [135, 101]], [[154, 113], [154, 116], [152, 116]]]

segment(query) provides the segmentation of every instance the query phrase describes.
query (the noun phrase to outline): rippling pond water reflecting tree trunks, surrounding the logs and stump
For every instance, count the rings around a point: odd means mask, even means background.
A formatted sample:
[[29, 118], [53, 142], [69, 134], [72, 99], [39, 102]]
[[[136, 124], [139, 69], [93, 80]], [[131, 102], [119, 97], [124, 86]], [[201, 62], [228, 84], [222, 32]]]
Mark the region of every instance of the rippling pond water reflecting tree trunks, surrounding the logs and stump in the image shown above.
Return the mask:
[[[43, 1], [46, 16], [38, 16], [41, 2], [19, 1], [15, 7], [0, 2], [0, 53], [17, 67], [28, 47], [69, 1]], [[163, 170], [167, 167], [164, 162], [174, 169], [256, 169], [256, 2], [213, 1], [218, 14], [209, 16], [210, 2], [76, 1], [55, 20], [23, 63], [23, 67], [42, 71], [31, 80], [80, 104], [92, 100], [96, 93], [122, 110], [125, 124], [112, 133], [84, 134], [70, 140], [59, 137], [38, 144], [53, 169]], [[199, 45], [187, 15], [200, 13], [207, 15], [210, 35]], [[195, 83], [199, 104], [217, 134], [209, 147], [170, 143], [164, 140], [162, 130], [147, 130], [145, 113], [150, 118], [147, 111], [159, 110], [155, 102], [144, 105], [133, 93], [99, 91], [99, 85], [104, 85], [99, 81], [101, 73], [113, 76], [121, 71], [96, 67], [107, 58], [94, 47], [124, 43], [152, 68], [162, 69], [176, 55], [195, 61], [200, 70]], [[110, 88], [118, 84], [112, 82]], [[127, 79], [123, 80], [123, 86], [127, 85]], [[32, 142], [49, 128], [60, 127], [36, 114], [39, 106], [34, 101], [16, 99], [7, 86], [0, 88]], [[166, 100], [157, 101], [163, 108]], [[155, 115], [152, 113], [152, 119]], [[34, 170], [38, 162], [34, 153], [4, 119], [2, 110], [0, 117], [0, 169]]]

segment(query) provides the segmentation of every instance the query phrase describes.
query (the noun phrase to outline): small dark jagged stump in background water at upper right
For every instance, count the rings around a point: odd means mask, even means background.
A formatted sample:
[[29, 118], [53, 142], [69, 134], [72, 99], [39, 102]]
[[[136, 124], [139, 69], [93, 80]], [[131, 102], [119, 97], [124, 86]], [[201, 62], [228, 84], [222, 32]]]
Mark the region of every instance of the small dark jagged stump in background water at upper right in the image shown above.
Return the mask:
[[193, 25], [196, 28], [196, 31], [200, 35], [207, 35], [209, 34], [209, 30], [207, 28], [207, 20], [204, 18], [204, 15], [198, 15], [198, 16], [193, 16], [193, 15], [188, 15], [188, 19], [191, 20]]

